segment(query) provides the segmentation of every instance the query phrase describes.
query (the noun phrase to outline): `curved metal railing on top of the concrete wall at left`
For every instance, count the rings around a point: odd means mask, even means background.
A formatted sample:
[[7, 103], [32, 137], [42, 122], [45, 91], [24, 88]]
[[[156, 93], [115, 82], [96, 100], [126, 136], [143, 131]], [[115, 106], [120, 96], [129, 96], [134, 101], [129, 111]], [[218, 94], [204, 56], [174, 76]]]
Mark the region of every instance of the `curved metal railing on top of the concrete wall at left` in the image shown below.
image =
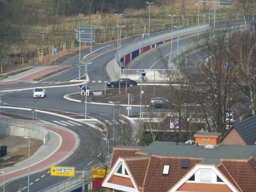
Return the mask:
[[16, 128], [23, 128], [23, 129], [30, 129], [39, 133], [42, 133], [44, 135], [44, 144], [48, 142], [48, 130], [39, 124], [31, 123], [28, 121], [22, 121], [17, 119], [11, 119], [11, 118], [4, 118], [1, 117], [1, 125], [8, 126], [14, 126]]

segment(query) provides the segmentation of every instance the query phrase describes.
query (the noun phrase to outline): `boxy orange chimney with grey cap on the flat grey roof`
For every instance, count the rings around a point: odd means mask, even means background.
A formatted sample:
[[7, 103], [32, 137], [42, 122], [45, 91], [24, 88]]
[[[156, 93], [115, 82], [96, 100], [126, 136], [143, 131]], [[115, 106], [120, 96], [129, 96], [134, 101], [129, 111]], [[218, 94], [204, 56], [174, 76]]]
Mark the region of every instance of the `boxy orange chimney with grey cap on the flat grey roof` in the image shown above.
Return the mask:
[[221, 133], [197, 132], [194, 134], [196, 143], [199, 145], [219, 145]]

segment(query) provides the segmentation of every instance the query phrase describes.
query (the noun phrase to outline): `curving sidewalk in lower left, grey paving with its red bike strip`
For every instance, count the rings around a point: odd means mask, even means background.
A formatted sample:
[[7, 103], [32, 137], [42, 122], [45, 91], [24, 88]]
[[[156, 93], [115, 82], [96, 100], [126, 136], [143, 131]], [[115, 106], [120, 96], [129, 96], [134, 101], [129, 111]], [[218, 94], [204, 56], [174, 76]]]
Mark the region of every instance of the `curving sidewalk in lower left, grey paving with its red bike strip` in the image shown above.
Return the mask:
[[[52, 126], [52, 124], [51, 126], [47, 126], [47, 124], [42, 121], [36, 123], [44, 123], [43, 126], [49, 131], [50, 140], [30, 157], [30, 174], [40, 172], [66, 160], [76, 151], [80, 144], [79, 136], [65, 127]], [[5, 172], [5, 183], [26, 176], [28, 175], [28, 159], [12, 167], [1, 169], [0, 172]], [[3, 181], [4, 176], [1, 175], [0, 186], [3, 185]]]

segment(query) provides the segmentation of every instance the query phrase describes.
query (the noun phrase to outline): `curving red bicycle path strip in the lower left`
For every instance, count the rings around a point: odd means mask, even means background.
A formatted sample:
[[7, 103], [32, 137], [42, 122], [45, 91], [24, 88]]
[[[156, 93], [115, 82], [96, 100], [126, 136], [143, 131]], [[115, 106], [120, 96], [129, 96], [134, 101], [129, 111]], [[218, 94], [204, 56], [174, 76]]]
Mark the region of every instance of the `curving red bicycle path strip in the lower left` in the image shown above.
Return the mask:
[[[65, 130], [59, 129], [59, 128], [55, 128], [55, 127], [50, 127], [50, 126], [45, 126], [45, 128], [47, 128], [48, 130], [52, 131], [52, 132], [56, 132], [58, 133], [61, 137], [62, 137], [62, 143], [60, 148], [53, 153], [50, 157], [48, 157], [47, 159], [41, 161], [40, 163], [34, 164], [32, 166], [30, 166], [29, 168], [29, 174], [33, 173], [37, 170], [41, 170], [44, 169], [56, 162], [58, 162], [59, 160], [61, 160], [63, 157], [65, 157], [66, 155], [68, 155], [68, 153], [70, 151], [72, 151], [72, 149], [75, 147], [76, 144], [76, 138], [75, 136]], [[15, 172], [11, 172], [5, 173], [5, 180], [9, 180], [18, 176], [22, 176], [28, 174], [28, 167], [23, 168], [21, 170], [15, 171]], [[0, 176], [0, 182], [4, 181], [4, 176], [1, 175]]]

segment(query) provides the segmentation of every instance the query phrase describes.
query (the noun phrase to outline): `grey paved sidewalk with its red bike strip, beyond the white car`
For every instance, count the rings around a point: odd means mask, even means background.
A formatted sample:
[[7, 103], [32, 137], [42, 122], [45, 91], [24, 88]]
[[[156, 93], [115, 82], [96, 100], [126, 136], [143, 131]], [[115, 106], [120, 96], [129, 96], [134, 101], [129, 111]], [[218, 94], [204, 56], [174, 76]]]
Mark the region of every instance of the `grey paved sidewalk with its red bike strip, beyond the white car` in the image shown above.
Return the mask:
[[[56, 71], [61, 68], [68, 67], [69, 65], [57, 65], [57, 66], [40, 66], [38, 68], [31, 68], [27, 71], [18, 73], [13, 76], [9, 76], [6, 79], [0, 80], [0, 85], [7, 85], [7, 84], [17, 84], [17, 83], [32, 83], [36, 82], [33, 79], [37, 77], [44, 76], [48, 73]], [[36, 72], [37, 71], [37, 72]]]

